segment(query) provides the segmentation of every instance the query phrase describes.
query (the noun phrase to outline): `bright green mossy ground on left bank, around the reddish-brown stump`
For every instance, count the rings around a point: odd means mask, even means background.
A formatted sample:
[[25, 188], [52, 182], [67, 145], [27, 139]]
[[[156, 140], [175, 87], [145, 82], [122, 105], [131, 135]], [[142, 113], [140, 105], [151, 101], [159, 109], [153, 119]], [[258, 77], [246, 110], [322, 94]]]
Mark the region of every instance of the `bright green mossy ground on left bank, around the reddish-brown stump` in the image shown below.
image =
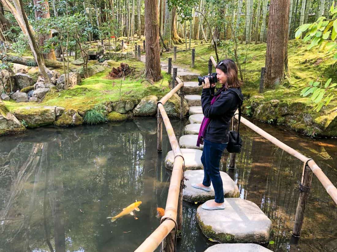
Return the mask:
[[[126, 77], [125, 80], [111, 79], [109, 77], [111, 68], [120, 66], [121, 62], [129, 64], [134, 69], [134, 74]], [[154, 84], [145, 81], [143, 76], [145, 65], [141, 61], [127, 59], [109, 61], [109, 63], [111, 67], [84, 79], [80, 85], [76, 85], [72, 89], [61, 92], [52, 90], [38, 106], [61, 106], [66, 109], [85, 110], [105, 101], [133, 100], [139, 102], [144, 96], [153, 94], [162, 97], [169, 91], [168, 81], [170, 76], [162, 73], [163, 79]], [[5, 104], [10, 111], [37, 105], [36, 102], [16, 103], [13, 100], [5, 101]]]

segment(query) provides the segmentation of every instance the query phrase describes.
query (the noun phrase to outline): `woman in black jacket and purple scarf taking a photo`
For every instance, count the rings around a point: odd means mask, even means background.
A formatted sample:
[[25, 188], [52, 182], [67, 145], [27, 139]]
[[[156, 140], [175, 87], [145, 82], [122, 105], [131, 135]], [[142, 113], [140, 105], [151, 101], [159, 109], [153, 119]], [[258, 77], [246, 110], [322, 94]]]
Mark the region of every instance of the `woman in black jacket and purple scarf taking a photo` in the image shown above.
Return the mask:
[[[200, 127], [197, 146], [204, 143], [201, 162], [204, 165], [204, 180], [193, 187], [211, 191], [211, 181], [214, 187], [215, 200], [205, 202], [203, 209], [224, 209], [223, 186], [220, 177], [220, 159], [228, 143], [228, 125], [235, 111], [238, 109], [242, 82], [238, 79], [238, 68], [232, 59], [221, 60], [215, 67], [217, 80], [222, 87], [215, 92], [215, 83], [210, 85], [209, 78], [205, 78], [201, 103], [204, 120]], [[207, 204], [206, 204], [207, 203]]]

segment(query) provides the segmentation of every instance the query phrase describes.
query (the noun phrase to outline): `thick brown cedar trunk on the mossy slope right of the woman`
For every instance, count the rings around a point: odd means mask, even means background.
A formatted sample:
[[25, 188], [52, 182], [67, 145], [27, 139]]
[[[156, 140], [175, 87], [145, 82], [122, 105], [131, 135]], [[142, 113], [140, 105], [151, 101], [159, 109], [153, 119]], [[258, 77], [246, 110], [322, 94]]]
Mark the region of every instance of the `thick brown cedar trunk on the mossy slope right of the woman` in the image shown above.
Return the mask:
[[271, 0], [267, 31], [267, 52], [264, 87], [283, 84], [288, 74], [289, 0]]

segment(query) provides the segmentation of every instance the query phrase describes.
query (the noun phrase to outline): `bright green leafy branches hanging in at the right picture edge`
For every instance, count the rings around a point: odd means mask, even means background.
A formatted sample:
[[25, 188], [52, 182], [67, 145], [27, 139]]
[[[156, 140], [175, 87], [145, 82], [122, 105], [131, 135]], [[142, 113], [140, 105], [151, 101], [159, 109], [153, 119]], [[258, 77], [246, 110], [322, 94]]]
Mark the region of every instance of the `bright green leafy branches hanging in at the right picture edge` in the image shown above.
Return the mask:
[[[337, 60], [337, 6], [335, 7], [334, 2], [329, 12], [331, 18], [322, 16], [314, 23], [304, 24], [298, 27], [295, 37], [298, 39], [306, 32], [303, 41], [307, 42], [311, 40], [308, 49], [316, 46], [320, 48], [323, 42], [331, 38], [332, 41], [325, 43], [322, 49], [327, 49], [328, 53], [335, 52], [333, 59]], [[314, 103], [314, 110], [318, 112], [323, 106], [328, 106], [335, 98], [334, 92], [336, 91], [336, 86], [337, 83], [332, 83], [331, 78], [327, 80], [324, 85], [317, 81], [310, 81], [309, 85], [300, 92], [300, 95], [303, 97], [311, 95], [310, 100]]]

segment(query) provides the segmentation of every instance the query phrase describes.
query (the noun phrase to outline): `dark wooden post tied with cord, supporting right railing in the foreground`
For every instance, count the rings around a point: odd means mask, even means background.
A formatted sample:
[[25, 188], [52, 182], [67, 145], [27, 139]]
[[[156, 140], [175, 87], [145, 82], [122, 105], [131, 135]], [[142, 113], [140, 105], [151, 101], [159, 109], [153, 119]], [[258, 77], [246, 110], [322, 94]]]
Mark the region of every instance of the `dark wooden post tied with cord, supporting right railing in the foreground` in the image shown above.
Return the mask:
[[301, 228], [303, 225], [304, 211], [307, 204], [308, 195], [311, 188], [312, 171], [307, 163], [304, 164], [302, 180], [300, 184], [300, 196], [297, 202], [297, 209], [295, 214], [295, 223], [293, 228], [293, 236], [301, 237]]

